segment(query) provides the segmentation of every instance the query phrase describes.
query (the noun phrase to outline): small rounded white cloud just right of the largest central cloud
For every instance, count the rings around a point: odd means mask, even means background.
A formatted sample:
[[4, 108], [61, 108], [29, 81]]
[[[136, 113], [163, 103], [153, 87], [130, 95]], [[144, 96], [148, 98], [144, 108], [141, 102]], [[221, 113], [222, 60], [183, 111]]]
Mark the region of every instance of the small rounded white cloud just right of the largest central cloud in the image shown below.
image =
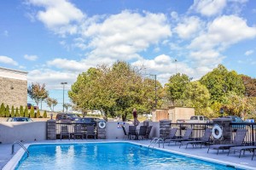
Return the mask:
[[195, 33], [199, 33], [202, 26], [203, 22], [198, 17], [185, 17], [182, 22], [177, 24], [174, 31], [177, 32], [179, 37], [188, 39], [190, 37], [194, 37]]

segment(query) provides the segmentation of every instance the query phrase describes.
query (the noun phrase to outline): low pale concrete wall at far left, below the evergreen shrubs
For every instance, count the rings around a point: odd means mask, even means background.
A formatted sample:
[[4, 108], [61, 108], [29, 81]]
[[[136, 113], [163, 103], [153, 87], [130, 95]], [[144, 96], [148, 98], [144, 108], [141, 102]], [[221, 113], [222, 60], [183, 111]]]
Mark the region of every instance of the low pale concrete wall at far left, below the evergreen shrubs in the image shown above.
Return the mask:
[[31, 142], [46, 139], [46, 122], [0, 122], [0, 142]]

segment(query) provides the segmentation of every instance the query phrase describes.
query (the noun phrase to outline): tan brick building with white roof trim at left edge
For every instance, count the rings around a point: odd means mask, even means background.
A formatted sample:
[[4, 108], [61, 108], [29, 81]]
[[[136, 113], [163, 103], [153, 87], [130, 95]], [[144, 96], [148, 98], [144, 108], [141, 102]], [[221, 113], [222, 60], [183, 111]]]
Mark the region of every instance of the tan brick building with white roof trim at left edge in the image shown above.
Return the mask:
[[0, 67], [0, 105], [20, 108], [27, 102], [27, 72]]

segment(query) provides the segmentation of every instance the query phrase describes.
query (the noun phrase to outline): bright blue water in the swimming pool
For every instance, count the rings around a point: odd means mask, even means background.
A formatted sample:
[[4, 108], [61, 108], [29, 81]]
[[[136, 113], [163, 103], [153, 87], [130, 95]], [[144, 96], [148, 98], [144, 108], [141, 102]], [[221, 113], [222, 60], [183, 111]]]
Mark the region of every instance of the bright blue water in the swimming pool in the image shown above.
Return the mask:
[[40, 144], [28, 150], [16, 169], [234, 169], [127, 143]]

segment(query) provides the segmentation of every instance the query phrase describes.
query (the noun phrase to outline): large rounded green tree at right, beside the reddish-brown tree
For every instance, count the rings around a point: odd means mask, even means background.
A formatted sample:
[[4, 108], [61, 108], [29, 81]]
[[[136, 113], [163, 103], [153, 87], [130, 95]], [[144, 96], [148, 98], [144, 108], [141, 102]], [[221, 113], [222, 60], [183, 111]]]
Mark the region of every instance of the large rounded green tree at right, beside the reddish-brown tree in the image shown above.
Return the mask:
[[226, 96], [229, 92], [237, 95], [245, 93], [241, 76], [237, 75], [236, 71], [228, 71], [224, 65], [218, 65], [218, 68], [208, 72], [201, 77], [200, 82], [208, 88], [212, 103], [214, 101], [221, 104], [227, 103]]

